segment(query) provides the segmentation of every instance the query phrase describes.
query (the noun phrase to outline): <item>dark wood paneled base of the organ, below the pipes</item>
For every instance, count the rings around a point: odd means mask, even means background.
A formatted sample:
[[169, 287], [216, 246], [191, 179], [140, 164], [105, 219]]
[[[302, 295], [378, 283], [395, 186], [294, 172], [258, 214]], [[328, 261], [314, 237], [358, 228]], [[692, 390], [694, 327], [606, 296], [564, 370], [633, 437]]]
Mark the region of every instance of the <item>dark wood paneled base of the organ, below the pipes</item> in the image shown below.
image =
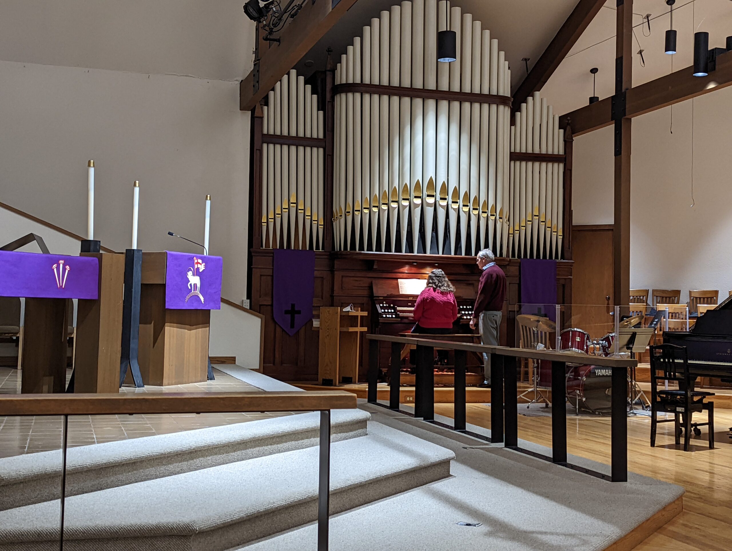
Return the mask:
[[[318, 331], [307, 323], [295, 337], [289, 337], [272, 318], [272, 250], [253, 250], [252, 308], [264, 315], [264, 364], [266, 375], [284, 381], [318, 380]], [[520, 299], [520, 260], [498, 258], [507, 274], [507, 299], [501, 344], [515, 343], [515, 307]], [[473, 257], [448, 255], [411, 255], [385, 252], [315, 252], [315, 299], [313, 314], [320, 317], [322, 306], [346, 307], [353, 304], [366, 312], [362, 326], [378, 332], [373, 315], [374, 280], [397, 280], [424, 276], [439, 267], [458, 288], [477, 291], [480, 271]], [[572, 262], [557, 263], [557, 301], [572, 304]], [[359, 380], [366, 376], [368, 347], [359, 335]]]

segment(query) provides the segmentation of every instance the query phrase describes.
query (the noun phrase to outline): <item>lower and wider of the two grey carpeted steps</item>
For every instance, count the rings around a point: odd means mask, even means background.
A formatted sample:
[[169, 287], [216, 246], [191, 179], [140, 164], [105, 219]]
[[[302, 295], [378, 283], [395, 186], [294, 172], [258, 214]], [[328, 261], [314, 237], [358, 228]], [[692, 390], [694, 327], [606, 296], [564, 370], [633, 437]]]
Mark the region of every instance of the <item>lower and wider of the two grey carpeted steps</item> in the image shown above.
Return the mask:
[[[331, 514], [449, 476], [455, 454], [378, 423], [333, 443]], [[318, 448], [229, 463], [77, 495], [66, 501], [67, 551], [217, 551], [317, 518]], [[58, 545], [58, 501], [0, 512], [0, 550]]]

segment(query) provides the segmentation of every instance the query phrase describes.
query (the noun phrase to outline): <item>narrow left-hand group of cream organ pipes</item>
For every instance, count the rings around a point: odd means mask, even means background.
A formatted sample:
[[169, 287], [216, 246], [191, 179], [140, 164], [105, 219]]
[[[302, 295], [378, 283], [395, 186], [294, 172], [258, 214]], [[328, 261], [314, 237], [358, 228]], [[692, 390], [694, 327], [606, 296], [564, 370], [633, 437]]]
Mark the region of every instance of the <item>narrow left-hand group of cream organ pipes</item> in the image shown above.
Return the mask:
[[295, 70], [262, 108], [261, 246], [323, 249], [324, 113]]

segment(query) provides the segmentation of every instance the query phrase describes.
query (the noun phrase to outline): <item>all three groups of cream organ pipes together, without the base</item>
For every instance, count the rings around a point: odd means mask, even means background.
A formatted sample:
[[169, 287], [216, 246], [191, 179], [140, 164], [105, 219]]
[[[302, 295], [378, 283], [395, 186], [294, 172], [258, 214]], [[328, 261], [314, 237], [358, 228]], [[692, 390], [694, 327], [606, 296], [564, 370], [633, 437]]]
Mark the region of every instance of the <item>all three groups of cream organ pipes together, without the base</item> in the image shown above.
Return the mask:
[[[452, 63], [437, 61], [445, 29]], [[480, 21], [402, 1], [332, 70], [312, 89], [291, 70], [267, 96], [261, 247], [563, 258], [564, 130], [538, 92], [512, 116], [508, 61]]]

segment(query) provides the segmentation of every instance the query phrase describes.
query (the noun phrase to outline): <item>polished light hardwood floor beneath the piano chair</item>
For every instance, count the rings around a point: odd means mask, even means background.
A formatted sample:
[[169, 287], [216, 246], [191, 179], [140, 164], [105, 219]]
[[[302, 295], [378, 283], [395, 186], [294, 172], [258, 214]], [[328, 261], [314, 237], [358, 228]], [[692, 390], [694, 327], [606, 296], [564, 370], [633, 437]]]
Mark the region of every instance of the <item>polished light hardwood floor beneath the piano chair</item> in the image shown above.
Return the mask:
[[[452, 410], [452, 404], [435, 404], [435, 413], [440, 415], [452, 417]], [[467, 421], [490, 428], [490, 407], [468, 404]], [[628, 419], [628, 468], [686, 490], [684, 511], [636, 550], [732, 549], [732, 439], [728, 436], [732, 411], [715, 410], [714, 425], [714, 449], [709, 449], [706, 427], [702, 427], [701, 436], [693, 437], [690, 451], [685, 452], [673, 443], [673, 423], [659, 424], [656, 447], [651, 448], [650, 419]], [[551, 418], [519, 415], [518, 437], [551, 446]], [[609, 464], [609, 417], [568, 416], [567, 451]]]

